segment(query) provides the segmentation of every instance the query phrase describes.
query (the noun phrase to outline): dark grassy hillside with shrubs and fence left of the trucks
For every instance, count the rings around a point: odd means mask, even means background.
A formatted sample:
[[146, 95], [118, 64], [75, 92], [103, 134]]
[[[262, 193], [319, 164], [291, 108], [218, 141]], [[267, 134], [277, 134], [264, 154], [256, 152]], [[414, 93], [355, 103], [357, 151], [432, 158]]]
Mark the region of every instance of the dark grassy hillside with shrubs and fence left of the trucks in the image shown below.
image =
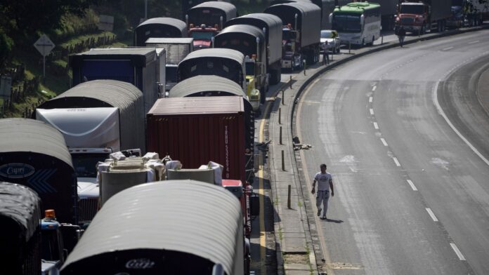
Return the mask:
[[[180, 1], [148, 1], [148, 17], [181, 17]], [[24, 46], [16, 46], [7, 66], [0, 74], [13, 79], [11, 100], [0, 98], [0, 117], [28, 117], [41, 102], [65, 92], [70, 88], [71, 72], [68, 57], [89, 48], [108, 46], [131, 46], [133, 28], [144, 16], [144, 6], [129, 5], [97, 6], [86, 11], [82, 18], [67, 14], [62, 18], [62, 27], [53, 29], [48, 37], [56, 47], [46, 57], [46, 77], [43, 79], [42, 56], [32, 46], [41, 34], [30, 38]], [[240, 15], [259, 13], [268, 6], [268, 0], [232, 1]], [[113, 15], [114, 31], [102, 32], [97, 28], [99, 15]], [[19, 44], [19, 43], [16, 43]], [[22, 44], [22, 43], [20, 43]]]

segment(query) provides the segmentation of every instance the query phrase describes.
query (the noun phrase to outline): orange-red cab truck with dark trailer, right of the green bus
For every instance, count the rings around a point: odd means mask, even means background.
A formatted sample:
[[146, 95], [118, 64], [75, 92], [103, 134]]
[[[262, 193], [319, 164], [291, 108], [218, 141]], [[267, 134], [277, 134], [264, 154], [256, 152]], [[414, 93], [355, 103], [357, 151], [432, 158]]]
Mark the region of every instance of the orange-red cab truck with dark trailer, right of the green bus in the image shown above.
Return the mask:
[[424, 34], [436, 27], [443, 32], [451, 15], [450, 0], [404, 1], [396, 16], [396, 28], [402, 25], [406, 32]]

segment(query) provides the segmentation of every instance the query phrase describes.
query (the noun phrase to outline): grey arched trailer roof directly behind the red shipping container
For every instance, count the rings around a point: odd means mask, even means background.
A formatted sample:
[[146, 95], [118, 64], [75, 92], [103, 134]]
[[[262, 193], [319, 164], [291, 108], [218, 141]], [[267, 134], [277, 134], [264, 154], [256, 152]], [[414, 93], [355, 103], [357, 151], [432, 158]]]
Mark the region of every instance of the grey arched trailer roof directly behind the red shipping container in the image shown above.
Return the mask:
[[169, 97], [185, 98], [189, 95], [200, 95], [202, 93], [205, 94], [206, 92], [221, 92], [225, 95], [226, 93], [228, 95], [238, 95], [248, 101], [246, 93], [244, 93], [243, 89], [237, 85], [235, 81], [214, 75], [194, 76], [190, 77], [190, 79], [178, 82], [171, 88]]

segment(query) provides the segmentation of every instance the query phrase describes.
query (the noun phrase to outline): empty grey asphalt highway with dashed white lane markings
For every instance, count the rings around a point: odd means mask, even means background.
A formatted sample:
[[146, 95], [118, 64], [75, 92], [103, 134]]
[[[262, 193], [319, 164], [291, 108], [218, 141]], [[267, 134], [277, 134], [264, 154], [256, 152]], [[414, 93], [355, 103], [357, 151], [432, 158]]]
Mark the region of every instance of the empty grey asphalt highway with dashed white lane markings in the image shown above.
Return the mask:
[[335, 186], [323, 271], [489, 274], [488, 63], [489, 32], [460, 34], [358, 58], [301, 95], [308, 186], [320, 163]]

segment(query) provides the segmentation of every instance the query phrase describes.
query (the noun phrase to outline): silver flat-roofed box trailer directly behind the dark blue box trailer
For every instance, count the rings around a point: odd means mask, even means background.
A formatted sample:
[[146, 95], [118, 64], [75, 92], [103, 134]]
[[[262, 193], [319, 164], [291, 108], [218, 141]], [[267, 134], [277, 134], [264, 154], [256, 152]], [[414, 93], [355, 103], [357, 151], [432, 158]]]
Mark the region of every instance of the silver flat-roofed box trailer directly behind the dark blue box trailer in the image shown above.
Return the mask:
[[176, 70], [185, 56], [193, 52], [193, 38], [150, 38], [145, 42], [148, 47], [164, 48], [167, 63], [165, 65], [165, 93], [178, 82]]

